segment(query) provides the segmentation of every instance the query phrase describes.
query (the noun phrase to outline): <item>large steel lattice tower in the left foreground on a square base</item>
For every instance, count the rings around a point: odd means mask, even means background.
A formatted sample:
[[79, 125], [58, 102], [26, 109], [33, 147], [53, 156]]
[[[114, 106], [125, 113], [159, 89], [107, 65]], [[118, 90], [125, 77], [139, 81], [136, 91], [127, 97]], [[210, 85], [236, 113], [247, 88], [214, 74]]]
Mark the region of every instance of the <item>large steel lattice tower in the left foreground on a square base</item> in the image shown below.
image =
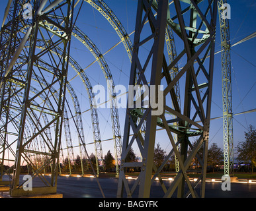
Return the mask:
[[[17, 134], [17, 150], [15, 153], [15, 165], [13, 169], [13, 181], [11, 183], [11, 196], [35, 195], [56, 193], [57, 190], [57, 176], [60, 155], [60, 143], [62, 136], [62, 125], [64, 122], [64, 104], [65, 92], [67, 84], [67, 70], [69, 63], [69, 49], [71, 30], [73, 28], [73, 9], [74, 1], [52, 1], [48, 3], [46, 0], [29, 1], [32, 10], [24, 16], [23, 6], [28, 1], [13, 1], [13, 7], [9, 7], [9, 14], [7, 18], [12, 20], [9, 24], [3, 26], [1, 33], [1, 44], [5, 42], [7, 48], [7, 59], [3, 63], [5, 72], [2, 72], [1, 78], [1, 121], [5, 115], [5, 122], [3, 122], [2, 129], [5, 131], [1, 134], [7, 134], [7, 125], [11, 121], [8, 113], [11, 101], [15, 101], [21, 106], [21, 109], [16, 108], [17, 116], [21, 117], [19, 129]], [[32, 12], [33, 11], [33, 12]], [[57, 16], [62, 16], [64, 19], [64, 26]], [[47, 24], [50, 22], [50, 25]], [[42, 24], [42, 25], [40, 25]], [[11, 31], [11, 33], [10, 33]], [[56, 32], [56, 33], [53, 33]], [[10, 36], [7, 37], [6, 35]], [[54, 36], [53, 36], [54, 34]], [[44, 40], [45, 50], [39, 51], [36, 49], [38, 39]], [[24, 48], [24, 45], [29, 43], [29, 48]], [[62, 55], [53, 55], [49, 52], [50, 49], [61, 47]], [[22, 53], [26, 59], [22, 60], [19, 55]], [[40, 68], [38, 61], [44, 59], [54, 67], [51, 70]], [[37, 82], [32, 78], [37, 78]], [[42, 86], [42, 78], [48, 86]], [[37, 88], [38, 93], [32, 92], [32, 87]], [[58, 100], [52, 98], [52, 88], [58, 90]], [[46, 106], [46, 102], [34, 105], [33, 102], [40, 101], [40, 94], [44, 94], [50, 99], [52, 109]], [[4, 114], [5, 113], [5, 114]], [[40, 125], [43, 113], [52, 116], [52, 119], [47, 125]], [[34, 125], [32, 135], [30, 138], [25, 136], [25, 125], [30, 119]], [[29, 124], [29, 122], [28, 122]], [[9, 126], [9, 125], [8, 125]], [[54, 131], [53, 140], [46, 134], [46, 129], [51, 128]], [[40, 152], [31, 148], [32, 141], [40, 137], [47, 146], [46, 152]], [[6, 141], [6, 139], [3, 139]], [[9, 145], [6, 145], [9, 147]], [[28, 154], [36, 154], [36, 156], [47, 157], [47, 162], [42, 166], [33, 166], [32, 178], [38, 176], [42, 185], [40, 187], [33, 187], [32, 191], [25, 191], [22, 189], [20, 183], [20, 173], [22, 163], [32, 164]], [[42, 173], [48, 166], [52, 168], [52, 175], [50, 180], [46, 179]]]

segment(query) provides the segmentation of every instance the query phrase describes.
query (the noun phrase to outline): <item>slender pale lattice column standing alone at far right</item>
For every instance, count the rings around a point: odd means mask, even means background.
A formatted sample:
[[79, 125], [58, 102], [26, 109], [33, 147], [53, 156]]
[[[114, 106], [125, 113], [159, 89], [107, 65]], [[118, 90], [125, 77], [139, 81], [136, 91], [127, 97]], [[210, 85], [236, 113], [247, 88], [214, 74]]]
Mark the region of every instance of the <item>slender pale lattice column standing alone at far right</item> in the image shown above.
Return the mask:
[[218, 1], [220, 18], [220, 38], [222, 47], [222, 106], [224, 140], [224, 174], [234, 173], [233, 111], [232, 111], [232, 75], [230, 61], [230, 24], [228, 21], [227, 1]]

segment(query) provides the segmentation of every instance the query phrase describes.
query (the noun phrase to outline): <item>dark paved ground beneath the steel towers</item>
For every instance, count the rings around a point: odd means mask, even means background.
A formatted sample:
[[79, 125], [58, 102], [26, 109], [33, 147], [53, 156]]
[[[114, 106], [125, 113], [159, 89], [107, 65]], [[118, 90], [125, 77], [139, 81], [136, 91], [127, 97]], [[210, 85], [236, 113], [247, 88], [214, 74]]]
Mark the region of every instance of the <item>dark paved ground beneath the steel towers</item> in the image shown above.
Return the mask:
[[[118, 179], [99, 178], [99, 182], [107, 198], [116, 198]], [[129, 185], [134, 183], [130, 180]], [[168, 187], [170, 181], [165, 181]], [[168, 184], [169, 183], [169, 184]], [[33, 187], [38, 186], [38, 178], [33, 179]], [[58, 177], [58, 193], [64, 198], [101, 198], [101, 191], [95, 178]], [[135, 191], [137, 194], [138, 191]], [[163, 191], [159, 181], [151, 186], [151, 197], [161, 198]], [[220, 183], [206, 183], [206, 198], [256, 198], [256, 184], [232, 183], [231, 191], [222, 191]]]

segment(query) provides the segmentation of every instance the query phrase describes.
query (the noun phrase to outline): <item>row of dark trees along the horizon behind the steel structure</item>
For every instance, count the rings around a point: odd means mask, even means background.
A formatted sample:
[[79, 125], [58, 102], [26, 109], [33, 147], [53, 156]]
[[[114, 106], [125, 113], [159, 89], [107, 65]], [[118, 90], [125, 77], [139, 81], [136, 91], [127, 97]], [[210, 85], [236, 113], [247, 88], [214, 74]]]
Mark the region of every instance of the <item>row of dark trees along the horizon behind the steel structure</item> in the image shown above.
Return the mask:
[[[192, 148], [196, 144], [196, 141], [192, 142]], [[253, 173], [253, 168], [256, 167], [256, 130], [255, 127], [249, 125], [249, 129], [245, 131], [245, 140], [241, 141], [235, 147], [237, 149], [237, 161], [240, 164], [247, 165], [251, 168]], [[187, 151], [187, 156], [191, 153], [191, 148]], [[191, 162], [190, 169], [200, 169], [200, 160], [202, 160], [203, 148], [197, 152], [197, 158], [194, 158]], [[156, 144], [153, 155], [153, 162], [158, 168], [161, 166], [163, 161], [167, 158], [165, 150], [163, 150], [159, 143]], [[48, 156], [31, 156], [32, 165], [22, 166], [22, 172], [32, 173], [33, 168], [39, 169], [40, 166], [46, 165], [44, 172], [42, 173], [51, 173], [52, 167], [50, 165], [50, 157]], [[90, 163], [91, 161], [91, 163]], [[128, 156], [126, 157], [126, 162], [140, 162], [141, 158], [136, 156], [134, 150], [130, 148]], [[224, 153], [223, 150], [218, 147], [216, 143], [210, 144], [208, 147], [208, 170], [216, 171], [220, 166], [224, 165]], [[94, 154], [91, 154], [88, 158], [81, 158], [77, 155], [75, 160], [65, 158], [60, 161], [60, 173], [93, 173], [93, 169], [97, 169], [96, 157]], [[110, 150], [104, 156], [103, 160], [99, 160], [99, 170], [100, 172], [115, 172], [116, 169], [115, 159], [112, 156]], [[4, 169], [8, 169], [8, 166], [4, 166]], [[238, 169], [239, 170], [239, 169]], [[9, 169], [9, 173], [12, 173], [13, 167]], [[136, 172], [140, 171], [140, 167], [126, 168], [126, 172]], [[162, 171], [175, 171], [175, 154], [169, 158]]]

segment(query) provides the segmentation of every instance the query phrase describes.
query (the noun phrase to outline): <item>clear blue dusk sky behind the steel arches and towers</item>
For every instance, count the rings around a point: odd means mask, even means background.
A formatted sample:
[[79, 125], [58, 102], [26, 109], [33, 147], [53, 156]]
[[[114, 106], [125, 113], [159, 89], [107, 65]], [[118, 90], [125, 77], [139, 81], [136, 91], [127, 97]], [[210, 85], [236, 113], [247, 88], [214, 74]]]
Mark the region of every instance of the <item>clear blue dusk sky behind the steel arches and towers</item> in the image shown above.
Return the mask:
[[[108, 7], [114, 11], [128, 34], [135, 29], [136, 6], [135, 0], [105, 0]], [[255, 0], [232, 0], [228, 1], [231, 5], [232, 16], [230, 20], [230, 39], [232, 44], [245, 38], [249, 34], [256, 32], [256, 1]], [[3, 20], [3, 13], [7, 5], [7, 0], [0, 1], [0, 20]], [[113, 45], [120, 41], [116, 32], [110, 26], [108, 21], [88, 3], [83, 3], [80, 16], [77, 19], [77, 26], [89, 36], [89, 38], [97, 45], [101, 53], [105, 53]], [[133, 34], [130, 36], [133, 42]], [[73, 39], [73, 38], [72, 38]], [[73, 57], [83, 69], [90, 65], [95, 59], [84, 45], [72, 40], [71, 57]], [[177, 45], [178, 49], [182, 46]], [[232, 97], [233, 112], [239, 113], [249, 109], [256, 108], [256, 38], [253, 38], [243, 44], [232, 47]], [[216, 33], [216, 51], [220, 50], [220, 26], [217, 26]], [[105, 55], [108, 67], [112, 73], [115, 84], [128, 86], [130, 76], [130, 61], [122, 44], [117, 45], [109, 53]], [[184, 64], [179, 64], [184, 65]], [[104, 84], [106, 86], [105, 76], [97, 63], [94, 63], [86, 69], [91, 84]], [[70, 69], [69, 80], [76, 73]], [[79, 80], [79, 77], [71, 80], [72, 86], [75, 88], [81, 111], [89, 109], [87, 92]], [[70, 99], [69, 99], [70, 100]], [[70, 100], [71, 102], [71, 100]], [[182, 102], [183, 103], [183, 102]], [[124, 115], [125, 109], [118, 109], [120, 115], [121, 135], [124, 131]], [[221, 57], [220, 53], [215, 57], [214, 63], [214, 85], [212, 96], [212, 117], [222, 116], [222, 75], [221, 75]], [[99, 119], [102, 140], [112, 137], [112, 127], [110, 119], [110, 109], [99, 109]], [[248, 113], [244, 115], [234, 116], [234, 145], [244, 140], [244, 131], [248, 126], [254, 125], [256, 113]], [[90, 112], [83, 113], [83, 127], [85, 131], [85, 140], [87, 143], [93, 142], [91, 132], [91, 115]], [[73, 131], [73, 146], [77, 146], [77, 133], [74, 125], [71, 125]], [[219, 147], [223, 148], [223, 129], [222, 119], [212, 120], [210, 123], [210, 144], [216, 142]], [[167, 149], [169, 142], [165, 140], [157, 140], [161, 147]], [[103, 142], [103, 154], [110, 150], [114, 154], [112, 141]], [[137, 149], [134, 149], [135, 151]], [[89, 154], [94, 153], [93, 145], [88, 146]], [[78, 153], [78, 149], [75, 148]]]

